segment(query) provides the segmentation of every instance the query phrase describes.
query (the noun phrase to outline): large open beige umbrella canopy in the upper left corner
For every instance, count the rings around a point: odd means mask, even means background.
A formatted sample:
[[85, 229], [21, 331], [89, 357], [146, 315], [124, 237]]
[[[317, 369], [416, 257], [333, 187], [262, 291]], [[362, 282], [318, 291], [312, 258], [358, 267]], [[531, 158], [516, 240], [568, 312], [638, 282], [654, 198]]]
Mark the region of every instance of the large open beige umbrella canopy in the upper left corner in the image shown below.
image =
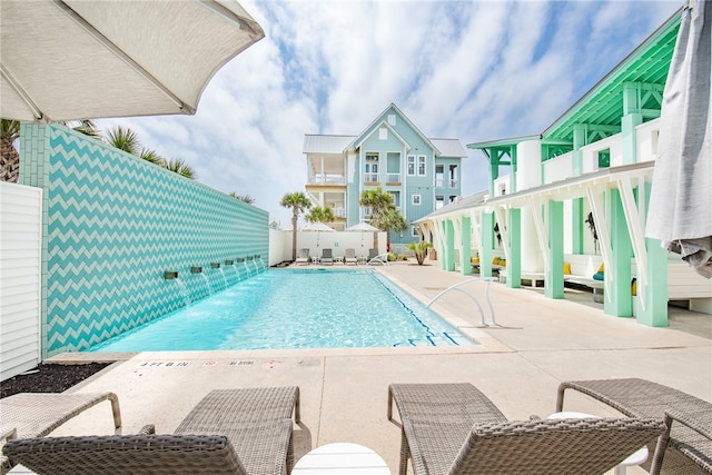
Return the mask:
[[264, 38], [234, 0], [2, 0], [0, 111], [43, 122], [196, 112]]

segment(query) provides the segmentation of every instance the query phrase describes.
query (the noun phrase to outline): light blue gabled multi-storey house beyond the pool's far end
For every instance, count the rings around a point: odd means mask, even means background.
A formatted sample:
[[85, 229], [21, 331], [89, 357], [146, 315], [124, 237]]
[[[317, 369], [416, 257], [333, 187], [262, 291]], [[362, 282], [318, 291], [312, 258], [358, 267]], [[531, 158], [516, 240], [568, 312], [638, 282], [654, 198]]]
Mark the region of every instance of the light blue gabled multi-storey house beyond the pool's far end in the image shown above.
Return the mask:
[[380, 187], [393, 196], [409, 225], [392, 232], [396, 250], [419, 236], [413, 221], [461, 196], [467, 157], [458, 139], [426, 137], [394, 103], [356, 136], [306, 135], [303, 151], [307, 196], [333, 209], [336, 230], [368, 221], [370, 210], [358, 204], [364, 190]]

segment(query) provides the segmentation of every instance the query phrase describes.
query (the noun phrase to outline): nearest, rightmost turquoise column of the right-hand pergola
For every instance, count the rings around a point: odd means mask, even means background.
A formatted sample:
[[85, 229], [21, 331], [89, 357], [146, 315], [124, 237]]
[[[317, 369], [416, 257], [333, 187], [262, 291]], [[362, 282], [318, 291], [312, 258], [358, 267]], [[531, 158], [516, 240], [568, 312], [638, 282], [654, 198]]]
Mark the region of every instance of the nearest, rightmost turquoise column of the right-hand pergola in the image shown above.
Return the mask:
[[[652, 184], [645, 184], [645, 196], [650, 199]], [[650, 209], [650, 208], [646, 208]], [[668, 326], [668, 250], [657, 239], [645, 238], [647, 251], [647, 289], [645, 309], [640, 290], [635, 297], [635, 319], [652, 327]], [[640, 289], [640, 287], [639, 287]]]

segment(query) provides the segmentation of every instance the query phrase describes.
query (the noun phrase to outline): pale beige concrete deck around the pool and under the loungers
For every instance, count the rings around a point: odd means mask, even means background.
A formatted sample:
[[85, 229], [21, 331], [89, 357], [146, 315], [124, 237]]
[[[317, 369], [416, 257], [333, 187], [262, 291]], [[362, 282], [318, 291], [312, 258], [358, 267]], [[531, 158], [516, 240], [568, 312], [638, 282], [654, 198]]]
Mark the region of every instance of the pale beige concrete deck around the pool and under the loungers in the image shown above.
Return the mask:
[[[424, 303], [472, 278], [443, 271], [436, 261], [425, 264], [417, 266], [412, 259], [377, 269]], [[484, 301], [483, 283], [464, 288]], [[125, 434], [136, 433], [145, 424], [155, 424], [158, 433], [171, 433], [214, 388], [297, 385], [301, 392], [301, 424], [295, 426], [297, 458], [317, 446], [352, 442], [373, 448], [394, 474], [400, 429], [386, 419], [390, 383], [469, 382], [510, 419], [553, 413], [556, 388], [568, 379], [642, 377], [712, 400], [712, 316], [671, 307], [671, 326], [651, 328], [632, 318], [605, 315], [591, 294], [566, 290], [564, 300], [542, 294], [542, 289], [510, 289], [493, 283], [490, 295], [502, 327], [477, 328], [481, 316], [473, 301], [449, 293], [434, 308], [481, 343], [468, 348], [120, 355], [126, 359], [70, 392], [116, 393]], [[51, 360], [99, 356], [65, 354]], [[565, 408], [615, 415], [606, 406], [574, 394], [567, 397]], [[111, 433], [110, 407], [100, 404], [53, 435]], [[645, 472], [634, 467], [627, 473]]]

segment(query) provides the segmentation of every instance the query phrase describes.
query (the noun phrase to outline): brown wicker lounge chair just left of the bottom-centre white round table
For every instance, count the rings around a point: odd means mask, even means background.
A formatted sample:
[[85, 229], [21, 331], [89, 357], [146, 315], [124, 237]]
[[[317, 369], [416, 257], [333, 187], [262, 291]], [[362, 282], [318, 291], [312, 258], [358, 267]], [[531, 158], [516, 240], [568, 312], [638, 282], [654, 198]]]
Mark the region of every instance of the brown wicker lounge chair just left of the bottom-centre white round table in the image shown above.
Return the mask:
[[38, 474], [275, 474], [294, 465], [299, 388], [216, 389], [172, 435], [11, 439], [4, 453]]

